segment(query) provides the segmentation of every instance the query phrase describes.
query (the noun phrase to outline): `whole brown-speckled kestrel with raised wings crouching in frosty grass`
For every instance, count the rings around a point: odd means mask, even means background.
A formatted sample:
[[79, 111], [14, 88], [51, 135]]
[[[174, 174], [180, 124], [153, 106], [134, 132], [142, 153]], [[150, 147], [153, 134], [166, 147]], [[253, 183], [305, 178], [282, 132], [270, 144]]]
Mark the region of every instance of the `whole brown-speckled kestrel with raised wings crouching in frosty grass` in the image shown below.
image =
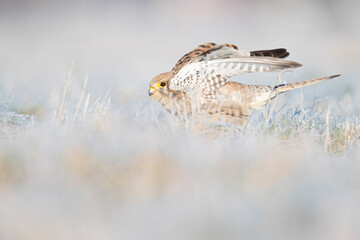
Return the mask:
[[185, 54], [170, 72], [153, 78], [148, 93], [169, 111], [185, 114], [197, 111], [213, 119], [244, 125], [253, 109], [266, 105], [280, 93], [340, 76], [274, 87], [229, 81], [242, 73], [277, 72], [302, 66], [285, 60], [287, 56], [289, 52], [284, 48], [248, 52], [234, 44], [206, 43]]

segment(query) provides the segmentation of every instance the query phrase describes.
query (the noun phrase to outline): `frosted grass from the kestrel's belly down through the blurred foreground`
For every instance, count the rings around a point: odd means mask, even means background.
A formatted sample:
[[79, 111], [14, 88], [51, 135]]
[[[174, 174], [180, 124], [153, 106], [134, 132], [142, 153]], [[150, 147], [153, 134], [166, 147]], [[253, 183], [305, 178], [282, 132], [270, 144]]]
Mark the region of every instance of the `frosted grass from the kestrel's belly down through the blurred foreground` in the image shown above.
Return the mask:
[[31, 124], [2, 107], [1, 239], [359, 234], [359, 123], [336, 106], [196, 131], [151, 101], [117, 106], [83, 88], [76, 103], [69, 89]]

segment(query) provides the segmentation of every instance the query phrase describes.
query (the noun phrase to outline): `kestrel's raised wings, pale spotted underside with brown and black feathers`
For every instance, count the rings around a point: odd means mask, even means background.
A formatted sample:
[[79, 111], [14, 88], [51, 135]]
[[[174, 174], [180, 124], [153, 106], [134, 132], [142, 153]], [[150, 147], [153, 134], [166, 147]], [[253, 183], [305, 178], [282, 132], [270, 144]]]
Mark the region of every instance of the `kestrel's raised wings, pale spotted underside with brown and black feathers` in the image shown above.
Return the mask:
[[[210, 43], [211, 44], [211, 43]], [[182, 90], [190, 94], [203, 90], [203, 94], [214, 95], [216, 89], [227, 83], [234, 75], [251, 72], [275, 72], [288, 68], [297, 68], [301, 64], [287, 61], [285, 49], [246, 52], [235, 45], [218, 45], [207, 49], [193, 50], [180, 59], [173, 69], [170, 89]], [[285, 50], [285, 52], [284, 52]], [[273, 52], [277, 57], [261, 56], [264, 52]], [[275, 54], [277, 52], [277, 54]], [[265, 55], [265, 54], [263, 54]]]

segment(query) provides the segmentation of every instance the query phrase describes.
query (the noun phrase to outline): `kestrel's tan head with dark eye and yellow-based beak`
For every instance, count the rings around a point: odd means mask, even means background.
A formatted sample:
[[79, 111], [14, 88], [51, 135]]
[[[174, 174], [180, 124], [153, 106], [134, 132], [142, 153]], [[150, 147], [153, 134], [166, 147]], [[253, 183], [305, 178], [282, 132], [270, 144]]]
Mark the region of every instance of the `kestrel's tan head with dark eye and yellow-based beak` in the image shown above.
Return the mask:
[[154, 77], [150, 82], [149, 96], [160, 101], [162, 97], [169, 96], [169, 83], [171, 72], [161, 73]]

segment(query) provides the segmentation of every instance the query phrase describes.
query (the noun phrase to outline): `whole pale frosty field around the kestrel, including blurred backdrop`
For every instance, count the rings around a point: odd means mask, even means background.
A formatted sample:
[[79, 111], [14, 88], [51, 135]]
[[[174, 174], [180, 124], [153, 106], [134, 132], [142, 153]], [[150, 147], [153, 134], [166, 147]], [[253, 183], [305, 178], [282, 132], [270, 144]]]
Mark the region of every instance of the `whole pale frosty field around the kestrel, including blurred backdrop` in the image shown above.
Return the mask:
[[[358, 238], [359, 3], [0, 4], [0, 239]], [[184, 127], [148, 83], [208, 41], [343, 75]]]

